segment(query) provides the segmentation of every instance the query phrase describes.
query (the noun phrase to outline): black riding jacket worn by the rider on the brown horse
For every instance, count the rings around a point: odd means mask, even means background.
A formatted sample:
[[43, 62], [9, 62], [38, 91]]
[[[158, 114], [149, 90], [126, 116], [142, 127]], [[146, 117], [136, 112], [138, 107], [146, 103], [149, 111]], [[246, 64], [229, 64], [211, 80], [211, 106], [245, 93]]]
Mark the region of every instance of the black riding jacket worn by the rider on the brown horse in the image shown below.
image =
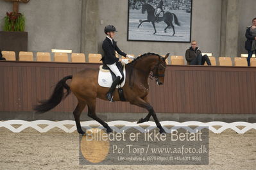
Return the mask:
[[[113, 39], [112, 39], [113, 40]], [[117, 51], [118, 54], [121, 56], [126, 57], [126, 54], [122, 52], [118, 47], [117, 47], [117, 42], [113, 40], [113, 43], [109, 38], [105, 38], [105, 40], [102, 43], [102, 49], [104, 50], [104, 56], [101, 58], [104, 64], [106, 65], [112, 65], [119, 61], [119, 58], [115, 57], [115, 50]]]

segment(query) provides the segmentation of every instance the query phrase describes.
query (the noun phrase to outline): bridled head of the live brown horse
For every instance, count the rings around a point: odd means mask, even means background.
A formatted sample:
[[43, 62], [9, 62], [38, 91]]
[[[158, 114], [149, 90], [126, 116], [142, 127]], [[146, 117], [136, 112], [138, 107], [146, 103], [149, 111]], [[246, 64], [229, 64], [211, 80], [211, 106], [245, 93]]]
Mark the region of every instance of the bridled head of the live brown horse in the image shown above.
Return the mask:
[[157, 85], [164, 84], [164, 73], [166, 72], [166, 59], [168, 56], [169, 53], [166, 54], [164, 58], [159, 56], [158, 63], [151, 68], [151, 72], [153, 72], [153, 77], [155, 77]]

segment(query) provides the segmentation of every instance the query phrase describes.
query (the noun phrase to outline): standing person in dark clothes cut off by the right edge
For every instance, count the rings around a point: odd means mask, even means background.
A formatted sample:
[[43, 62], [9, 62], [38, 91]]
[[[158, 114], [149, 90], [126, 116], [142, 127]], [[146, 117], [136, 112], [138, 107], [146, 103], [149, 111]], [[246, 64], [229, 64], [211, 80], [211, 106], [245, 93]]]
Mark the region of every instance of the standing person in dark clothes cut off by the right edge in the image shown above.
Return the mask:
[[247, 38], [245, 42], [245, 49], [248, 51], [247, 63], [250, 66], [250, 59], [252, 58], [253, 51], [256, 54], [256, 30], [253, 29], [256, 26], [256, 18], [252, 20], [252, 26], [247, 27], [245, 36]]

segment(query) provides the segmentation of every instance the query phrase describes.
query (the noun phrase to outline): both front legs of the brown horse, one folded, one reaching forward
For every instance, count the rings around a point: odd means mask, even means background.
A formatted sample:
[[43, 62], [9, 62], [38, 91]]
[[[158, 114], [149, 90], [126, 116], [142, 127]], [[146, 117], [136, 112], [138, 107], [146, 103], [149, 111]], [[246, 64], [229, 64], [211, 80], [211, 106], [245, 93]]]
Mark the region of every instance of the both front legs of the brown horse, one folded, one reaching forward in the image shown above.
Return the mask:
[[[148, 102], [146, 102], [145, 100], [143, 100], [142, 98], [135, 98], [135, 100], [133, 100], [132, 102], [130, 102], [130, 104], [133, 104], [133, 105], [137, 105], [139, 107], [142, 107], [144, 109], [147, 109], [148, 110], [148, 115], [146, 116], [146, 118], [142, 119], [142, 122], [145, 120], [149, 120], [150, 116], [153, 117], [153, 119], [155, 120], [155, 124], [157, 125], [157, 127], [159, 128], [159, 132], [160, 134], [162, 133], [165, 133], [166, 131], [164, 130], [164, 128], [162, 128], [162, 125], [160, 124], [160, 122], [158, 121], [158, 118], [157, 118], [157, 114], [155, 114], [155, 111], [153, 109], [153, 107], [148, 104]], [[140, 120], [138, 121], [140, 122]], [[141, 123], [142, 123], [141, 122]]]

